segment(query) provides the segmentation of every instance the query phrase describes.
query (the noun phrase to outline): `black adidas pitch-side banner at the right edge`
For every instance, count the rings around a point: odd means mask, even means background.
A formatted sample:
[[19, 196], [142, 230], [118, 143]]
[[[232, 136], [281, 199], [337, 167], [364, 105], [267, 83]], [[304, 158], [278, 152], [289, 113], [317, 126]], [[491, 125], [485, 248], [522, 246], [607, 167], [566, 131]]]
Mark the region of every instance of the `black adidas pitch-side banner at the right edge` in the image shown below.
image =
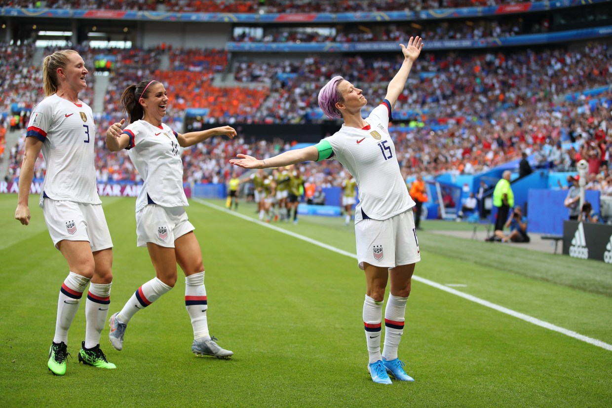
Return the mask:
[[563, 253], [612, 264], [612, 225], [564, 221]]

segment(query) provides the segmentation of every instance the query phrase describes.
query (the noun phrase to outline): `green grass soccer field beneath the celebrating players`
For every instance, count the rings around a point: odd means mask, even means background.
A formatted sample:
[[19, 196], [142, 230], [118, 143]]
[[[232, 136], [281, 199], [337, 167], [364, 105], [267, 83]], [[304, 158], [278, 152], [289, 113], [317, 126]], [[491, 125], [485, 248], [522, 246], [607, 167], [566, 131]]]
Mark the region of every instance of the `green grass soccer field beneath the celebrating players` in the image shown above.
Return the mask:
[[[378, 385], [366, 368], [353, 227], [322, 217], [261, 224], [253, 205], [237, 217], [221, 200], [192, 200], [187, 213], [204, 254], [209, 328], [234, 357], [192, 354], [179, 276], [132, 319], [123, 351], [106, 325], [101, 346], [116, 370], [78, 363], [82, 304], [67, 373], [53, 376], [48, 347], [68, 271], [37, 202], [24, 227], [13, 219], [17, 196], [0, 195], [2, 407], [612, 406], [610, 265], [439, 236], [425, 221], [399, 351], [415, 382]], [[114, 313], [154, 270], [136, 248], [135, 199], [103, 203]]]

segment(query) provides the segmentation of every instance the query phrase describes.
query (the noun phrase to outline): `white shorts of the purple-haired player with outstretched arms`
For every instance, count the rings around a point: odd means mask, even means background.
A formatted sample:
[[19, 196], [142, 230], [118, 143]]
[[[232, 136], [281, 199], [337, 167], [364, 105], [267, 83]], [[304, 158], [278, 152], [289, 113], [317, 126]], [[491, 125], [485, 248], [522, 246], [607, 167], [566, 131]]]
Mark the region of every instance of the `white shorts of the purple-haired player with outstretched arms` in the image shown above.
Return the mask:
[[361, 220], [355, 224], [355, 237], [360, 269], [364, 269], [364, 262], [394, 268], [420, 261], [412, 209], [384, 221]]

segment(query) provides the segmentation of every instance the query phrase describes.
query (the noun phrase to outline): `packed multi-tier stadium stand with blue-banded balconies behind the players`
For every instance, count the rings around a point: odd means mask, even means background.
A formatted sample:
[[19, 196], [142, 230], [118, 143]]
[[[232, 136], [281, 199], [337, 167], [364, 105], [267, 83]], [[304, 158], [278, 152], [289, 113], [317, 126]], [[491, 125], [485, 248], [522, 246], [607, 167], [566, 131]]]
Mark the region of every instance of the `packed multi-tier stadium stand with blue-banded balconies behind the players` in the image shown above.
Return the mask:
[[[78, 50], [90, 70], [81, 99], [97, 116], [101, 182], [139, 180], [127, 155], [110, 153], [103, 143], [106, 128], [125, 117], [119, 97], [127, 84], [162, 81], [171, 105], [166, 122], [178, 132], [236, 127], [234, 140], [215, 138], [184, 152], [185, 182], [223, 184], [237, 170], [228, 164], [237, 153], [270, 157], [334, 132], [340, 123], [326, 119], [317, 105], [318, 90], [331, 76], [341, 74], [364, 89], [375, 106], [401, 64], [398, 43], [421, 35], [425, 48], [392, 123], [407, 182], [417, 173], [455, 180], [515, 168], [526, 152], [532, 166], [547, 171], [573, 171], [584, 158], [591, 163], [589, 188], [612, 195], [608, 1], [0, 6], [4, 127], [19, 133], [42, 98], [42, 57]], [[47, 10], [46, 17], [35, 17], [32, 9]], [[7, 180], [18, 179], [23, 152], [23, 138], [13, 140], [7, 138], [0, 167]], [[303, 170], [321, 186], [338, 186], [345, 176], [335, 161]], [[42, 160], [36, 171], [43, 176]], [[480, 179], [473, 180], [472, 191]]]

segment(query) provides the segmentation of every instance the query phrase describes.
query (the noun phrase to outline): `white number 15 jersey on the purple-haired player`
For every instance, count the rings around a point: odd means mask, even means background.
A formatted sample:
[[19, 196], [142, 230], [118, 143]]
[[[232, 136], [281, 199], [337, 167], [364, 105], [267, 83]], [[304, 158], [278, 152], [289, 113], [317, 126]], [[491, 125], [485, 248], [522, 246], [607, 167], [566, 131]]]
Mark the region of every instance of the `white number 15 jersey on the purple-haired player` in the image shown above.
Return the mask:
[[367, 130], [342, 125], [325, 139], [334, 150], [332, 158], [340, 161], [357, 181], [355, 223], [362, 220], [362, 214], [387, 220], [414, 206], [389, 136], [390, 112], [390, 104], [385, 101], [365, 119], [370, 125]]

